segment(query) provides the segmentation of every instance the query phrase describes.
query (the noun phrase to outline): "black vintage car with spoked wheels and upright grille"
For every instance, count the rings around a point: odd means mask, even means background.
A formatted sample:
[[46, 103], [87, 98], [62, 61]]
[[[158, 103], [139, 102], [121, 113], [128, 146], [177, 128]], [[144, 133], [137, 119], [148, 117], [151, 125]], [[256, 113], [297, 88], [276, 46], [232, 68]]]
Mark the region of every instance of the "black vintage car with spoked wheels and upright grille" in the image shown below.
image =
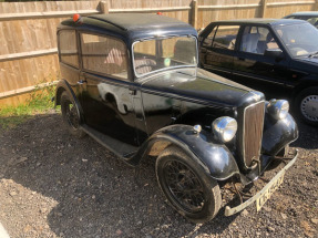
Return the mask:
[[[197, 33], [156, 14], [74, 15], [58, 28], [55, 103], [71, 134], [89, 134], [129, 165], [156, 158], [158, 184], [186, 218], [211, 220], [227, 182], [249, 186], [298, 137], [288, 102], [197, 68]], [[259, 209], [291, 161], [236, 214]], [[240, 193], [240, 192], [237, 192]]]

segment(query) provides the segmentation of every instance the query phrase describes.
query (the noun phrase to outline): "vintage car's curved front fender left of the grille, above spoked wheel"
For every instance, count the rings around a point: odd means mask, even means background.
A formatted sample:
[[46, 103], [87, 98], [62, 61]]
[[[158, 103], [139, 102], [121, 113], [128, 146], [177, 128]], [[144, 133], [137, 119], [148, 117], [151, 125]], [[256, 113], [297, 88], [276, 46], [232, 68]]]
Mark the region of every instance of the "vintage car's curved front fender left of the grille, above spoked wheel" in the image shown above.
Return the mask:
[[141, 161], [145, 157], [160, 141], [181, 147], [217, 180], [239, 174], [236, 161], [225, 145], [213, 143], [211, 135], [205, 131], [196, 134], [189, 125], [171, 125], [157, 131], [143, 144], [135, 159]]

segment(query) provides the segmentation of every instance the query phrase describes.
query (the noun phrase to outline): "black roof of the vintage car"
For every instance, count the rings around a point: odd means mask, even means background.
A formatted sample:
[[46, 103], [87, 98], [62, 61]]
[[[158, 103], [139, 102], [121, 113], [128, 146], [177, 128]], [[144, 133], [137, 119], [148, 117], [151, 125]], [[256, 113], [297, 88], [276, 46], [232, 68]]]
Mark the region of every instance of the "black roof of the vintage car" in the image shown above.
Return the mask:
[[93, 14], [82, 17], [80, 23], [68, 19], [60, 23], [58, 30], [70, 28], [99, 31], [100, 33], [104, 33], [106, 30], [131, 41], [157, 35], [197, 35], [196, 30], [186, 22], [160, 14], [144, 13]]

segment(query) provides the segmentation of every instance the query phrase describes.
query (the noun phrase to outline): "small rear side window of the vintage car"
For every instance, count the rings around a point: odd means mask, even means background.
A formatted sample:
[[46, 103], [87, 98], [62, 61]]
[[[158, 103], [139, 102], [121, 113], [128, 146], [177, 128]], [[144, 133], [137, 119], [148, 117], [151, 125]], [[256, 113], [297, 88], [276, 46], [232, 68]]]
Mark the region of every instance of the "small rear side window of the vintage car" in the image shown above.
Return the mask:
[[79, 68], [78, 43], [75, 31], [60, 31], [59, 33], [60, 60], [63, 63]]

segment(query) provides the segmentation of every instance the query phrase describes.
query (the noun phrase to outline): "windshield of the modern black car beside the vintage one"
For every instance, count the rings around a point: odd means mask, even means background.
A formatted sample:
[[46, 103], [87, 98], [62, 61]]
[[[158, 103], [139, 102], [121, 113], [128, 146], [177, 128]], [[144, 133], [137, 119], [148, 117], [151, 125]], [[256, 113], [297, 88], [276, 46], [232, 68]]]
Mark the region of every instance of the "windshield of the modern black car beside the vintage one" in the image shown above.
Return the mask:
[[294, 58], [318, 52], [318, 31], [309, 23], [277, 25], [275, 31]]

